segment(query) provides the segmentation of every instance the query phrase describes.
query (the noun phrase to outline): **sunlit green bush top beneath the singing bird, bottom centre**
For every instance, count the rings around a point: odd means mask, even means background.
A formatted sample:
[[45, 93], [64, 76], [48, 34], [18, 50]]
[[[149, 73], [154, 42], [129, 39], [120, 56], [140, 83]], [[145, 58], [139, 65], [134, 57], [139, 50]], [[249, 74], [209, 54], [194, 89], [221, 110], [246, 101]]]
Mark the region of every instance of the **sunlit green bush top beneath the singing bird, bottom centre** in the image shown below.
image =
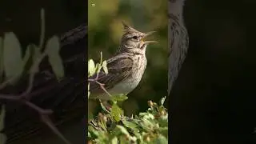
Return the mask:
[[[161, 110], [166, 110], [164, 106]], [[144, 113], [135, 115], [134, 118], [123, 115], [122, 109], [118, 107], [117, 102], [112, 105], [111, 113], [102, 113], [102, 116], [110, 119], [111, 126], [105, 125], [107, 130], [102, 127], [100, 122], [90, 131], [93, 136], [94, 131], [98, 132], [98, 137], [91, 137], [94, 142], [98, 143], [116, 143], [115, 137], [118, 138], [118, 143], [159, 143], [164, 144], [168, 142], [168, 121], [166, 119], [155, 118], [158, 110], [146, 110]], [[167, 111], [166, 111], [166, 115]], [[120, 118], [122, 122], [118, 122]], [[105, 121], [106, 124], [106, 121]]]

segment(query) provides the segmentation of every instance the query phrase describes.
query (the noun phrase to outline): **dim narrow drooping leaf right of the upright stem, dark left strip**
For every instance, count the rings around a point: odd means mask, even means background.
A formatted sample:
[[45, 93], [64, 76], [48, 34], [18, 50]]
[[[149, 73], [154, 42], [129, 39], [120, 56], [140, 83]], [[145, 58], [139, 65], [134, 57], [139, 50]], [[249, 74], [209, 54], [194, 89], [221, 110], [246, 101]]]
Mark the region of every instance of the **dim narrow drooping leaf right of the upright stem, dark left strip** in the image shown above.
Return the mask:
[[59, 54], [60, 44], [59, 38], [53, 36], [46, 42], [46, 53], [48, 54], [50, 65], [54, 71], [58, 80], [64, 77], [64, 67], [62, 64], [62, 58]]

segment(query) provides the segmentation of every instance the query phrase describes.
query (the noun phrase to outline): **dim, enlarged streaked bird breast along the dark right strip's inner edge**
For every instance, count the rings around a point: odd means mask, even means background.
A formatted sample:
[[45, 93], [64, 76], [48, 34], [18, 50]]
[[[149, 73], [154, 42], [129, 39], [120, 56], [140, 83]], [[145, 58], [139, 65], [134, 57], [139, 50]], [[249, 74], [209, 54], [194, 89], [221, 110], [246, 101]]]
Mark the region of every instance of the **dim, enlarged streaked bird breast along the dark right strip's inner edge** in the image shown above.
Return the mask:
[[178, 78], [182, 63], [189, 48], [189, 35], [183, 20], [183, 6], [185, 0], [169, 0], [169, 68], [168, 68], [168, 95], [174, 82]]

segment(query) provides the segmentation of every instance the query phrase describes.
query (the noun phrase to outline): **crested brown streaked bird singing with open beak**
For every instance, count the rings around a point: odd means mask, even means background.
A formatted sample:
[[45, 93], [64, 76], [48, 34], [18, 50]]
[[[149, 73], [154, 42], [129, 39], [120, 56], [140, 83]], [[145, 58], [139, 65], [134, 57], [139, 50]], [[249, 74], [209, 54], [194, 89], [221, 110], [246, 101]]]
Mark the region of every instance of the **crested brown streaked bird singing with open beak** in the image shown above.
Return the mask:
[[[106, 60], [108, 74], [101, 70], [94, 74], [90, 81], [90, 99], [110, 100], [111, 95], [129, 94], [134, 90], [142, 79], [146, 70], [146, 47], [156, 41], [146, 41], [145, 38], [155, 31], [142, 33], [132, 26], [122, 22], [124, 34], [116, 54]], [[102, 90], [99, 83], [104, 85]]]

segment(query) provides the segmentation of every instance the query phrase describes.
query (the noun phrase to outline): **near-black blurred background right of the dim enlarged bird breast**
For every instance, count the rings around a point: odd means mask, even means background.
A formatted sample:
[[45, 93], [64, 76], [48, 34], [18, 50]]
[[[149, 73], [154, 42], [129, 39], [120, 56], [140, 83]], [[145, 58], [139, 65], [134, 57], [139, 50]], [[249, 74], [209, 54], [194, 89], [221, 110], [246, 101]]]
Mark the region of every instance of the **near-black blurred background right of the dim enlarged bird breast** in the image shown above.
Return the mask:
[[170, 94], [172, 143], [256, 143], [255, 6], [186, 1], [190, 49]]

